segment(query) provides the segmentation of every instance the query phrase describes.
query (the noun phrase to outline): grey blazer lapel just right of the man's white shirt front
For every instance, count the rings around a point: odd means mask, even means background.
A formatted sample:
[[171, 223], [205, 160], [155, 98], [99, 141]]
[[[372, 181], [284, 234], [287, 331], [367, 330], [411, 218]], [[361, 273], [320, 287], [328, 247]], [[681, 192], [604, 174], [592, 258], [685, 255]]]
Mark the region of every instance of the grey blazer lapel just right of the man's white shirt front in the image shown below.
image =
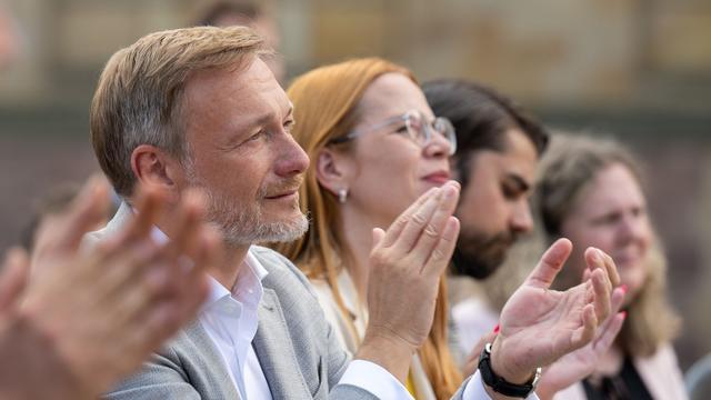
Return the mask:
[[310, 399], [311, 392], [297, 361], [289, 327], [273, 289], [264, 288], [259, 307], [254, 352], [273, 399]]

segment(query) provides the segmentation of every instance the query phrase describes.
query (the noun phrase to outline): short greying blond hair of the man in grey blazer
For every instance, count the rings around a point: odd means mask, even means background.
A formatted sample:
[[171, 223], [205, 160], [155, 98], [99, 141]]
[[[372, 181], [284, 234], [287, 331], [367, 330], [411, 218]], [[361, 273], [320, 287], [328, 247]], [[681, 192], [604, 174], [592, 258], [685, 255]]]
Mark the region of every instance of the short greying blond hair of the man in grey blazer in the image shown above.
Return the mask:
[[131, 194], [131, 153], [152, 144], [187, 156], [181, 99], [194, 71], [240, 68], [270, 51], [244, 27], [198, 27], [148, 34], [117, 51], [107, 63], [91, 102], [91, 141], [116, 191]]

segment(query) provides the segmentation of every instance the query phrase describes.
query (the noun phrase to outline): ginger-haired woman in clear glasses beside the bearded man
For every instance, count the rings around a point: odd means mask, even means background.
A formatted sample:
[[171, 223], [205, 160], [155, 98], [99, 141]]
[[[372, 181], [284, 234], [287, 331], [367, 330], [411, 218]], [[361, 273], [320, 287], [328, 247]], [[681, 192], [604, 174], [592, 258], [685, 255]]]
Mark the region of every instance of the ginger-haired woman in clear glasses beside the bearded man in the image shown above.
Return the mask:
[[[380, 59], [319, 68], [288, 94], [298, 121], [292, 134], [311, 158], [299, 194], [312, 224], [277, 249], [311, 279], [338, 337], [356, 351], [368, 320], [371, 231], [450, 179], [454, 132], [432, 114], [410, 71]], [[407, 382], [418, 399], [450, 398], [462, 381], [448, 346], [444, 280], [439, 290]]]

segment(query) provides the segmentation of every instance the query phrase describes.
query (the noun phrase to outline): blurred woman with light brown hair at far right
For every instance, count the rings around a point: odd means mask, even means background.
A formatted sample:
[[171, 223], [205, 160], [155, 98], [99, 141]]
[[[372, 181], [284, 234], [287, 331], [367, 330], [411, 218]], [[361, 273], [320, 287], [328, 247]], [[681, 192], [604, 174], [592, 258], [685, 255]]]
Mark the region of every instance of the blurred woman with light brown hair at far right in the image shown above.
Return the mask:
[[558, 289], [580, 282], [578, 249], [592, 246], [614, 259], [627, 291], [627, 319], [614, 344], [582, 384], [560, 398], [685, 399], [671, 346], [680, 320], [667, 299], [667, 260], [635, 158], [615, 141], [557, 136], [541, 162], [535, 204], [548, 240], [565, 237], [577, 249]]

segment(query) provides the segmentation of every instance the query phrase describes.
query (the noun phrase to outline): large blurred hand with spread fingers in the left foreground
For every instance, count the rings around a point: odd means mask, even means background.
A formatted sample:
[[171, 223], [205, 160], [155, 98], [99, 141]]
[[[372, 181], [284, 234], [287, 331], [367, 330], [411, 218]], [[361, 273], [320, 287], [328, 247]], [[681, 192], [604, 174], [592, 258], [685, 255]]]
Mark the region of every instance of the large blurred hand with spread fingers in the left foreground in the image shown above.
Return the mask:
[[16, 337], [31, 346], [12, 349], [24, 354], [28, 368], [3, 369], [7, 379], [38, 379], [21, 398], [47, 398], [42, 390], [56, 399], [98, 396], [191, 320], [207, 296], [204, 271], [218, 262], [220, 240], [200, 222], [199, 193], [184, 197], [176, 217], [179, 233], [168, 244], [150, 238], [163, 200], [144, 191], [138, 214], [117, 237], [79, 252], [83, 232], [107, 202], [106, 183], [91, 182], [53, 222], [57, 234], [38, 243], [31, 268], [39, 273], [26, 288], [14, 324], [22, 332]]

